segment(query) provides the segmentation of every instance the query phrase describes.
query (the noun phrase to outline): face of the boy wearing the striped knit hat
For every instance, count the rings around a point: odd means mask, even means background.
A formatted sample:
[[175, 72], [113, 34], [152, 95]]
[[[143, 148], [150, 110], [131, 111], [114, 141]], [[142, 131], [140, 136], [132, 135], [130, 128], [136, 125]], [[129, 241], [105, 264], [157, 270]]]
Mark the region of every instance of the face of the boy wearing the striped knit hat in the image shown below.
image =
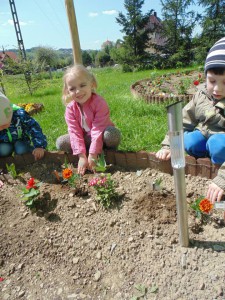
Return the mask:
[[215, 75], [210, 70], [206, 75], [207, 91], [216, 100], [225, 98], [225, 72], [223, 75]]

